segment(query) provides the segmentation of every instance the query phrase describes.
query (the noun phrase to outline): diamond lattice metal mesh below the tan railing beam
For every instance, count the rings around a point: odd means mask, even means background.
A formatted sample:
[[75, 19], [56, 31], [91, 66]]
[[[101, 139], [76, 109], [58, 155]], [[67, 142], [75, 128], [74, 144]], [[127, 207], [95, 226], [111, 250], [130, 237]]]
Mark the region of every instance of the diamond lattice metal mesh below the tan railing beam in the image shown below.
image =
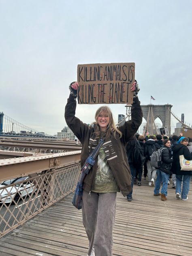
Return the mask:
[[38, 176], [18, 177], [0, 184], [0, 237], [72, 193], [80, 163], [49, 169]]

